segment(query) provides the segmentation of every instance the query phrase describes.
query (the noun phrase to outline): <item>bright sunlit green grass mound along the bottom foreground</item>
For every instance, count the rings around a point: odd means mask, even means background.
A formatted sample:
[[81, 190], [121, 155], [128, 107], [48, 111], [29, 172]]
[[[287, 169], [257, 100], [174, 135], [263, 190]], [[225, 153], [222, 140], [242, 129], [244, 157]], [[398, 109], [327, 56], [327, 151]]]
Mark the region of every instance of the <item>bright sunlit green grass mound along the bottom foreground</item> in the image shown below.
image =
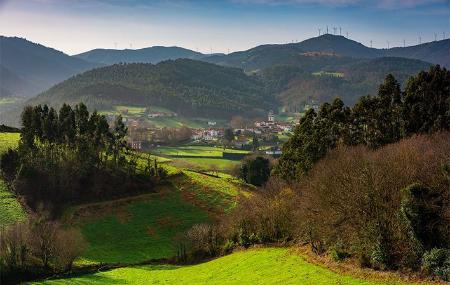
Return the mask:
[[[37, 284], [37, 283], [36, 283]], [[285, 248], [252, 249], [192, 266], [148, 265], [119, 268], [40, 284], [303, 284], [401, 285], [341, 275], [305, 261]]]

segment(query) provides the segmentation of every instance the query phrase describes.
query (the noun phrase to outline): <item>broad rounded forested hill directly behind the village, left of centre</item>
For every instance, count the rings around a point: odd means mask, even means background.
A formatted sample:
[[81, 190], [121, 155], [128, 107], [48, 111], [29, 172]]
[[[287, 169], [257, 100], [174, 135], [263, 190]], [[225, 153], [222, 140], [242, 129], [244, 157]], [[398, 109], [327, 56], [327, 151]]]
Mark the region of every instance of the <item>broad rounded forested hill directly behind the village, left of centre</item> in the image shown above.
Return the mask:
[[91, 108], [113, 105], [162, 106], [183, 115], [258, 115], [275, 105], [256, 77], [236, 68], [190, 59], [157, 65], [132, 63], [76, 75], [40, 94], [30, 104], [85, 102]]

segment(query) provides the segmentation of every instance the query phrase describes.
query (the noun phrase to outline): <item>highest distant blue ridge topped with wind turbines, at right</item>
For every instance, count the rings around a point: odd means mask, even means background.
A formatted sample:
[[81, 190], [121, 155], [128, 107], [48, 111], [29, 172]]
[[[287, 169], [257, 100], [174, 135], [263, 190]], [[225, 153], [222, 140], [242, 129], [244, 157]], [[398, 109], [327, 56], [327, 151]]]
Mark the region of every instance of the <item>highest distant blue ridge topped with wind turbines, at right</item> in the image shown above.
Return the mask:
[[[450, 67], [450, 40], [425, 43], [417, 46], [391, 49], [375, 49], [364, 46], [343, 36], [325, 34], [300, 43], [262, 45], [246, 51], [228, 55], [215, 55], [203, 60], [234, 66], [246, 71], [257, 71], [270, 66], [290, 64], [309, 68], [317, 63], [316, 68], [361, 58], [404, 57], [440, 64]], [[318, 58], [320, 58], [318, 60]]]

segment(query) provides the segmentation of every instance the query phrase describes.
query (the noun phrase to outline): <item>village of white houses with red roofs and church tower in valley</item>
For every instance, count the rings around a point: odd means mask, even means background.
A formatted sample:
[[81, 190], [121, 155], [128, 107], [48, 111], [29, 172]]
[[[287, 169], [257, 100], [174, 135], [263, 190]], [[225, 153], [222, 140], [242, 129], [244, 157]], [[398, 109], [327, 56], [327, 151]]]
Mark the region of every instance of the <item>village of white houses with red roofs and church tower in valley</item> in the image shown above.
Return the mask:
[[[203, 145], [237, 150], [259, 152], [274, 157], [281, 155], [281, 145], [292, 134], [297, 121], [277, 120], [273, 111], [266, 118], [246, 120], [234, 116], [230, 122], [220, 124], [209, 120], [203, 127], [181, 126], [177, 128], [157, 127], [151, 122], [155, 118], [178, 117], [173, 112], [144, 113], [144, 116], [129, 116], [129, 111], [121, 111], [128, 127], [129, 146], [138, 151], [152, 151], [162, 146]], [[108, 116], [113, 120], [113, 116]]]

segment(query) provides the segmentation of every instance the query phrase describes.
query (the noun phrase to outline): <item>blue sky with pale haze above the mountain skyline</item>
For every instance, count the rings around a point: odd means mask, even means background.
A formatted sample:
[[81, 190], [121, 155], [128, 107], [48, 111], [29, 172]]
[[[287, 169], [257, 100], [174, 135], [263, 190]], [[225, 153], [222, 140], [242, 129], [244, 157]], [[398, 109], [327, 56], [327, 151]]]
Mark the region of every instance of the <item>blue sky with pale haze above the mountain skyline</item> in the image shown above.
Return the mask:
[[439, 40], [450, 37], [450, 0], [0, 0], [0, 35], [70, 55], [155, 45], [229, 53], [327, 26], [377, 48]]

